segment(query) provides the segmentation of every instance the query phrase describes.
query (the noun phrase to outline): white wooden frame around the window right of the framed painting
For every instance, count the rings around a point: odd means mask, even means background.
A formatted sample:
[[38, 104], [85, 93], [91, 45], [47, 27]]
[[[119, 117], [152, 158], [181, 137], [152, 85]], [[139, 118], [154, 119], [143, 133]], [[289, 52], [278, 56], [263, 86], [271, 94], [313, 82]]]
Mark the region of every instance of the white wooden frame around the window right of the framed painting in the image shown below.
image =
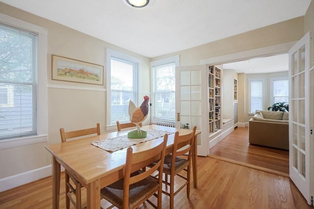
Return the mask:
[[106, 61], [107, 61], [107, 85], [106, 85], [106, 92], [107, 92], [107, 96], [106, 96], [106, 127], [108, 131], [112, 131], [116, 129], [116, 125], [111, 125], [111, 57], [116, 57], [118, 59], [121, 60], [126, 60], [128, 62], [132, 62], [132, 63], [137, 63], [137, 70], [135, 72], [133, 72], [134, 76], [133, 79], [135, 79], [135, 81], [133, 80], [133, 84], [135, 83], [135, 86], [133, 87], [133, 92], [135, 93], [134, 95], [134, 100], [133, 101], [136, 104], [138, 104], [138, 90], [139, 90], [139, 74], [141, 72], [141, 66], [142, 66], [142, 60], [136, 57], [133, 57], [129, 54], [125, 54], [122, 53], [120, 51], [116, 51], [110, 48], [106, 49]]

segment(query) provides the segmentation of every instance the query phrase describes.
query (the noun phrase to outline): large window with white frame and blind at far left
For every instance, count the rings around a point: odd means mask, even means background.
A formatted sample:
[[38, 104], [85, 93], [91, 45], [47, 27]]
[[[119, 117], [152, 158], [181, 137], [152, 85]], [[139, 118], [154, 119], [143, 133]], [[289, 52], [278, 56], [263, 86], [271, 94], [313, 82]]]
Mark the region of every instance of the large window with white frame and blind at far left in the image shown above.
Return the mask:
[[0, 149], [45, 142], [47, 30], [4, 14], [0, 20]]

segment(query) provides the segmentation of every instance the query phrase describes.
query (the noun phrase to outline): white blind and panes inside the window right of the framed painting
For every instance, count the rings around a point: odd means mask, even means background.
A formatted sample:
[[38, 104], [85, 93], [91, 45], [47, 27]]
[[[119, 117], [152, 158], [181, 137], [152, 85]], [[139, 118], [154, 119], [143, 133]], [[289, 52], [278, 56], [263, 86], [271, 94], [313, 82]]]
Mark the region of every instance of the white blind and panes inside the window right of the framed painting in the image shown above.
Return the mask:
[[131, 99], [136, 104], [138, 63], [113, 56], [110, 58], [110, 63], [110, 125], [115, 125], [117, 120], [122, 123], [130, 122], [129, 101]]

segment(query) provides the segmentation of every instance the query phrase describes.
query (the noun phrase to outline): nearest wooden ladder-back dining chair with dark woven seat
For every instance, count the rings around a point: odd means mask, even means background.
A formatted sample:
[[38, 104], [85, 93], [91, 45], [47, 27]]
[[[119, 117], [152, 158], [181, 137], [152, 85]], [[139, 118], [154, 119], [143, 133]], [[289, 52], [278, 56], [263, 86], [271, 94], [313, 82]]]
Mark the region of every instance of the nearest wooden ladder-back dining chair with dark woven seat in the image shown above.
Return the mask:
[[[154, 208], [161, 209], [162, 169], [168, 135], [157, 146], [141, 152], [133, 153], [132, 147], [127, 149], [124, 178], [101, 189], [101, 197], [119, 209], [135, 209], [147, 201]], [[141, 168], [155, 163], [151, 169]], [[159, 171], [159, 178], [151, 175]], [[134, 172], [135, 171], [135, 172]], [[157, 192], [157, 194], [156, 194]], [[149, 198], [157, 196], [157, 206]]]

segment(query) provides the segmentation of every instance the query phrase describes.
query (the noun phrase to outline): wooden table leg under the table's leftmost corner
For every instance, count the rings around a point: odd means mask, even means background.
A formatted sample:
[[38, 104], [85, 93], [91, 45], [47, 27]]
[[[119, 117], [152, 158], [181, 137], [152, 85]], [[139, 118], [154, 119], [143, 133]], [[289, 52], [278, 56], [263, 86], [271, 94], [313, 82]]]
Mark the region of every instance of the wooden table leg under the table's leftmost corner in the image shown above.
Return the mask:
[[59, 209], [60, 164], [52, 156], [52, 209]]

